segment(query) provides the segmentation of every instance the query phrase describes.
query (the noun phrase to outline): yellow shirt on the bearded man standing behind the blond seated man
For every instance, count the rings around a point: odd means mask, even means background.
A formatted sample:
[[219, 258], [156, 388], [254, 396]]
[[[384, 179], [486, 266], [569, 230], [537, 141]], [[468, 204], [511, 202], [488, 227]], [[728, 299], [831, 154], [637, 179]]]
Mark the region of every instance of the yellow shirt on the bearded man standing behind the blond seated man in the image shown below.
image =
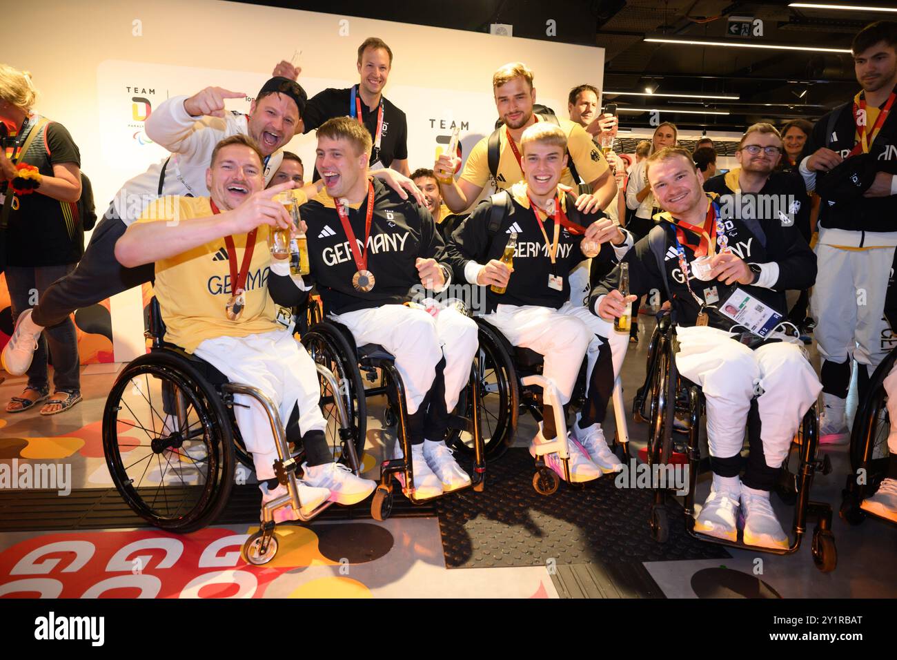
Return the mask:
[[[539, 121], [544, 121], [544, 119], [539, 119]], [[592, 142], [592, 137], [588, 135], [585, 128], [570, 119], [558, 118], [558, 122], [562, 131], [567, 135], [567, 150], [570, 152], [570, 158], [576, 165], [576, 170], [582, 180], [591, 183], [607, 172], [609, 169], [607, 161], [601, 154], [601, 149]], [[478, 188], [485, 188], [491, 178], [488, 143], [489, 137], [486, 136], [474, 145], [467, 157], [464, 171], [461, 172], [461, 179], [470, 181]], [[517, 146], [519, 151], [520, 145]], [[508, 145], [508, 132], [504, 130], [504, 127], [499, 132], [499, 153], [501, 154], [499, 167], [495, 176], [496, 191], [509, 189], [518, 181], [523, 180], [523, 171], [517, 163], [517, 158], [514, 157], [513, 150]], [[561, 183], [575, 187], [579, 181], [574, 181], [570, 175], [570, 168], [565, 167], [561, 174]]]

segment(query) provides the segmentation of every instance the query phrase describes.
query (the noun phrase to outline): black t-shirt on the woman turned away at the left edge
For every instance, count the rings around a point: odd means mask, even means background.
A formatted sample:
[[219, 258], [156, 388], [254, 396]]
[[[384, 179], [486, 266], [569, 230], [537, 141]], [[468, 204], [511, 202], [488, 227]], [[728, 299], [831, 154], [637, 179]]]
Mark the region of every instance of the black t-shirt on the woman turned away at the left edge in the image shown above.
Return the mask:
[[[81, 167], [81, 154], [65, 127], [54, 121], [40, 129], [19, 163], [53, 176], [53, 165], [59, 163]], [[62, 266], [81, 259], [84, 229], [77, 202], [60, 202], [39, 190], [16, 197], [18, 209], [10, 210], [6, 229], [7, 266]]]

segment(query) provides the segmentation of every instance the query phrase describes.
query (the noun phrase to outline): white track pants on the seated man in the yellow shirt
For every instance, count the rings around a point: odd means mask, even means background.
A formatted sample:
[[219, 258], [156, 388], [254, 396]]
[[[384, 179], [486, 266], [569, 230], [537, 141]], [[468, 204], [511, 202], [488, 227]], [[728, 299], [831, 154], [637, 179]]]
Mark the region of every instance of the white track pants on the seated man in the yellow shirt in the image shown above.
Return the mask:
[[[318, 408], [318, 372], [305, 348], [286, 330], [273, 330], [248, 337], [205, 339], [196, 347], [201, 357], [228, 377], [231, 383], [252, 385], [264, 392], [286, 424], [293, 406], [299, 404], [299, 428], [304, 436], [324, 430], [327, 421]], [[274, 434], [262, 405], [245, 394], [234, 395], [234, 418], [246, 448], [252, 453], [257, 480], [274, 478]], [[245, 407], [244, 407], [245, 406]]]

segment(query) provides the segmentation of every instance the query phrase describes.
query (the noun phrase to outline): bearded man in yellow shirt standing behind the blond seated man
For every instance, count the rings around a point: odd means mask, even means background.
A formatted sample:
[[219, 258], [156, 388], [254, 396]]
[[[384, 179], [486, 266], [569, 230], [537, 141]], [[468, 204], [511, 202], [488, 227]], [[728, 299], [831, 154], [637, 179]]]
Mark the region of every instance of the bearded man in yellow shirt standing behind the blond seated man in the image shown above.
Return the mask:
[[[492, 75], [492, 92], [495, 107], [504, 123], [499, 133], [499, 163], [492, 180], [496, 191], [509, 189], [523, 180], [520, 165], [520, 136], [536, 124], [539, 119], [533, 111], [536, 89], [533, 87], [533, 72], [522, 62], [511, 62]], [[601, 150], [592, 143], [586, 131], [569, 119], [557, 119], [558, 125], [567, 136], [570, 159], [582, 180], [592, 189], [591, 193], [579, 195], [576, 207], [583, 213], [594, 208], [605, 208], [616, 195], [616, 183]], [[483, 137], [467, 157], [464, 172], [457, 181], [452, 177], [460, 167], [457, 154], [442, 154], [433, 171], [440, 177], [440, 190], [446, 206], [455, 213], [461, 213], [474, 203], [483, 188], [492, 179], [488, 162], [489, 137]], [[448, 183], [444, 182], [448, 181]], [[579, 184], [573, 180], [570, 169], [565, 168], [561, 182], [570, 187]]]

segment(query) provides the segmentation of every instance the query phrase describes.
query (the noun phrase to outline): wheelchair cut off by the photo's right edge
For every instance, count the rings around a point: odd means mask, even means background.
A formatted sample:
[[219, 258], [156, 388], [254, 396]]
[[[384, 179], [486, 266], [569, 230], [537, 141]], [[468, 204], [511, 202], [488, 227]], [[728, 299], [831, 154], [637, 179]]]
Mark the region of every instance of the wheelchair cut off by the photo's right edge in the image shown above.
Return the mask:
[[869, 378], [867, 394], [859, 402], [857, 414], [850, 432], [850, 470], [847, 484], [841, 491], [840, 517], [848, 524], [858, 525], [872, 516], [893, 524], [862, 508], [863, 500], [873, 495], [887, 474], [890, 452], [888, 451], [888, 435], [891, 432], [891, 419], [888, 415], [888, 393], [884, 390], [884, 379], [893, 369], [897, 361], [897, 348], [894, 348], [878, 365]]

